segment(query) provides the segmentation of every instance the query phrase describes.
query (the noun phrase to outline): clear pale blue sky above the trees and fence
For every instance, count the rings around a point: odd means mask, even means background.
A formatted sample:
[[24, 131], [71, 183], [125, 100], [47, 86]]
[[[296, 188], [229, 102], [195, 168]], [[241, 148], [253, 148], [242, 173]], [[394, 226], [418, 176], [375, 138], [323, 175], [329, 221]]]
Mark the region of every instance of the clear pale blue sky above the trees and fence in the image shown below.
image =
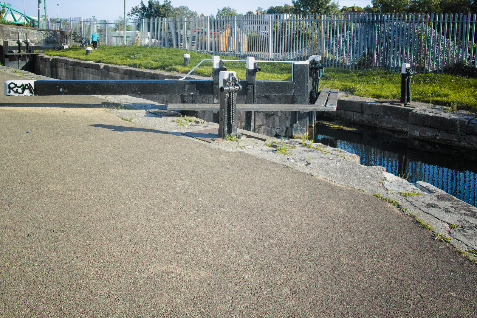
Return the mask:
[[[14, 9], [23, 12], [23, 3], [25, 4], [25, 13], [31, 16], [38, 15], [38, 1], [37, 0], [2, 0], [10, 3]], [[44, 3], [48, 6], [47, 14], [50, 18], [56, 18], [58, 9], [60, 18], [70, 17], [96, 17], [98, 20], [114, 20], [118, 16], [124, 15], [124, 0], [41, 0], [40, 15], [44, 14]], [[161, 3], [164, 0], [160, 0]], [[224, 7], [223, 1], [212, 0], [171, 0], [174, 7], [187, 6], [190, 10], [197, 11], [198, 14], [205, 15], [216, 14], [217, 9]], [[226, 1], [227, 2], [227, 1]], [[132, 7], [141, 3], [141, 0], [126, 0], [126, 13]], [[147, 4], [147, 0], [144, 0]], [[291, 4], [291, 0], [241, 0], [232, 1], [230, 7], [237, 10], [239, 13], [247, 11], [255, 11], [257, 7], [268, 9], [270, 6], [282, 6], [285, 3]], [[57, 5], [60, 5], [59, 7]], [[340, 0], [340, 7], [351, 7], [357, 5], [365, 7], [371, 4], [371, 0]]]

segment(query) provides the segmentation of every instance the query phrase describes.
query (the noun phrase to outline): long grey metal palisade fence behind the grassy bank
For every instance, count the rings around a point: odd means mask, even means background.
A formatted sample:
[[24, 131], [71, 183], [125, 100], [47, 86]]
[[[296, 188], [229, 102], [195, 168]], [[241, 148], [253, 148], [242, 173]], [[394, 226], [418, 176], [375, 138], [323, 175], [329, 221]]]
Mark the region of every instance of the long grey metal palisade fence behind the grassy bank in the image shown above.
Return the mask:
[[476, 14], [263, 14], [100, 21], [70, 18], [41, 27], [71, 30], [73, 41], [97, 32], [100, 45], [178, 48], [261, 60], [303, 61], [321, 55], [326, 66], [442, 71], [465, 61], [477, 67]]

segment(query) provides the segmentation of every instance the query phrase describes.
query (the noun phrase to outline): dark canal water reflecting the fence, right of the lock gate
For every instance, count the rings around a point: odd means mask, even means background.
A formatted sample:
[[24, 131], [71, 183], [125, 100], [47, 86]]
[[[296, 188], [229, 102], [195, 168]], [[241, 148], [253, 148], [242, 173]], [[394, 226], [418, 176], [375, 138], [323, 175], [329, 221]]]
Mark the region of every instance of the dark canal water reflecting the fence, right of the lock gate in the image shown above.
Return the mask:
[[417, 142], [407, 137], [363, 125], [341, 125], [315, 124], [314, 142], [357, 154], [363, 165], [383, 166], [411, 183], [425, 181], [477, 206], [477, 155], [442, 146], [436, 153], [435, 145], [426, 147], [430, 151], [415, 149]]

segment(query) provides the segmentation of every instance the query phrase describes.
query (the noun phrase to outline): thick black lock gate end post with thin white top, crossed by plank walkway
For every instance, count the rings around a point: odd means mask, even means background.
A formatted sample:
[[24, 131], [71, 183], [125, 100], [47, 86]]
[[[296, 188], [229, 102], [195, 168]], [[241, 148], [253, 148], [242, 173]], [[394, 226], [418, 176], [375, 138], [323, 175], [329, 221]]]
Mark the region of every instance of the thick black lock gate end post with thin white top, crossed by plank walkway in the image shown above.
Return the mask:
[[[310, 102], [309, 62], [293, 63], [293, 82], [295, 82], [294, 104], [308, 104]], [[308, 135], [308, 114], [303, 112], [291, 112], [290, 135], [293, 138], [301, 138]]]

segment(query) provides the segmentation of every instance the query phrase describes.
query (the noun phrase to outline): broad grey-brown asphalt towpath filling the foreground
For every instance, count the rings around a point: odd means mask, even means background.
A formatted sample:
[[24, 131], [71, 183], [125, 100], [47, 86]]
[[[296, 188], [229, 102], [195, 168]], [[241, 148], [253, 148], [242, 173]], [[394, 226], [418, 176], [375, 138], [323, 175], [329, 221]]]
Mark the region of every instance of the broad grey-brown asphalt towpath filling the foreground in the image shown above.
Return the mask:
[[476, 264], [393, 205], [57, 101], [0, 97], [0, 317], [476, 317]]

